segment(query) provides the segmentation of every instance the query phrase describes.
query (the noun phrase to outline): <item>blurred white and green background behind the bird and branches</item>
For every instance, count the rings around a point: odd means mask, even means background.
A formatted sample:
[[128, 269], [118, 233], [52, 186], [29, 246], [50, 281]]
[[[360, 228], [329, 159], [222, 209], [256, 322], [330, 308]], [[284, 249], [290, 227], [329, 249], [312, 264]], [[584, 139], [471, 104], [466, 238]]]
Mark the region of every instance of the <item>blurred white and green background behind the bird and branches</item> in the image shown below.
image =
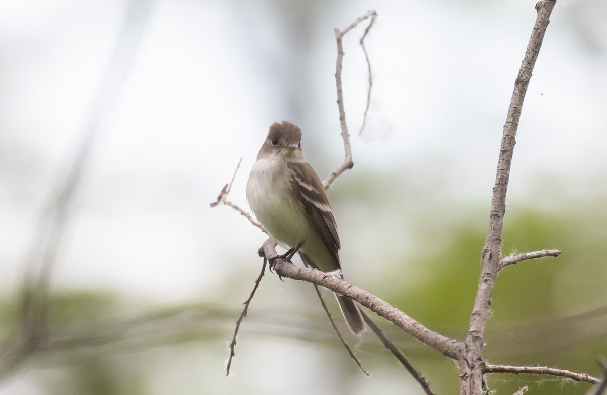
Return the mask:
[[[1, 339], [19, 333], [24, 309], [46, 317], [39, 351], [10, 354], [11, 340], [0, 349], [0, 394], [421, 394], [370, 333], [347, 338], [365, 377], [313, 288], [271, 274], [225, 377], [265, 237], [209, 203], [242, 158], [228, 198], [247, 208], [248, 173], [275, 121], [302, 127], [322, 178], [341, 163], [333, 29], [375, 8], [361, 132], [367, 22], [344, 42], [354, 167], [328, 192], [344, 271], [464, 340], [534, 5], [0, 2]], [[551, 17], [518, 130], [503, 250], [563, 254], [501, 272], [484, 350], [492, 363], [600, 376], [606, 12], [600, 0], [559, 1]], [[437, 394], [458, 393], [455, 362], [378, 322]], [[488, 379], [498, 394], [589, 388], [549, 376]]]

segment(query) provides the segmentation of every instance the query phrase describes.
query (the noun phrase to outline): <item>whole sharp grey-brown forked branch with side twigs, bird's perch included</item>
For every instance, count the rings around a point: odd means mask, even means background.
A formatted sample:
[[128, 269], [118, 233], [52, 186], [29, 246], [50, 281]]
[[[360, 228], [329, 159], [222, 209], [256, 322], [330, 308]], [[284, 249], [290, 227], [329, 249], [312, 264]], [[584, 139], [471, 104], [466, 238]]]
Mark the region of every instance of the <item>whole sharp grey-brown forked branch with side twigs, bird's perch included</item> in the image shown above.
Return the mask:
[[[280, 258], [276, 252], [276, 242], [271, 238], [266, 240], [262, 247], [259, 249], [259, 254], [264, 258], [264, 265], [266, 260], [273, 262], [273, 269], [276, 271], [281, 279], [282, 277], [290, 278], [294, 280], [304, 280], [313, 283], [315, 286], [324, 286], [331, 291], [345, 295], [346, 297], [355, 300], [362, 306], [371, 309], [376, 312], [379, 316], [384, 317], [396, 326], [409, 333], [411, 336], [418, 339], [420, 342], [437, 349], [445, 356], [459, 361], [459, 378], [460, 378], [460, 394], [462, 395], [481, 395], [488, 391], [486, 388], [486, 382], [484, 380], [484, 374], [488, 373], [532, 373], [532, 374], [548, 374], [551, 376], [565, 377], [567, 379], [577, 380], [580, 382], [588, 382], [596, 384], [597, 386], [601, 383], [601, 380], [596, 377], [589, 376], [584, 373], [575, 373], [568, 370], [561, 370], [556, 368], [549, 368], [548, 366], [508, 366], [508, 365], [493, 365], [487, 363], [481, 356], [484, 342], [484, 331], [489, 314], [489, 305], [495, 280], [497, 279], [498, 271], [509, 265], [515, 265], [518, 262], [524, 260], [531, 260], [535, 258], [544, 257], [558, 257], [561, 254], [557, 249], [543, 249], [541, 251], [526, 252], [524, 254], [511, 255], [509, 257], [501, 258], [501, 237], [503, 232], [503, 218], [506, 207], [506, 191], [509, 182], [510, 164], [512, 163], [512, 154], [514, 152], [515, 137], [518, 127], [518, 121], [520, 119], [520, 113], [523, 106], [523, 99], [529, 80], [531, 79], [531, 72], [533, 70], [535, 60], [537, 59], [538, 52], [541, 47], [546, 27], [548, 27], [549, 16], [554, 8], [555, 0], [541, 0], [537, 3], [536, 9], [538, 11], [537, 21], [535, 22], [534, 29], [532, 31], [529, 45], [521, 64], [520, 71], [515, 81], [514, 93], [512, 94], [512, 100], [510, 102], [509, 110], [507, 112], [506, 123], [504, 125], [503, 138], [501, 140], [500, 155], [498, 158], [497, 174], [495, 179], [495, 186], [493, 187], [492, 206], [489, 215], [489, 227], [487, 230], [486, 243], [483, 248], [483, 254], [481, 258], [481, 277], [478, 285], [478, 292], [476, 295], [475, 305], [470, 316], [469, 333], [465, 342], [460, 342], [456, 339], [449, 339], [432, 329], [426, 328], [426, 326], [417, 322], [410, 316], [407, 316], [404, 312], [390, 305], [384, 300], [379, 299], [375, 295], [371, 294], [364, 289], [358, 288], [345, 280], [339, 279], [334, 275], [327, 274], [325, 272], [318, 271], [313, 268], [302, 268], [293, 263], [287, 262]], [[339, 177], [345, 170], [353, 167], [350, 139], [348, 133], [348, 126], [345, 118], [345, 107], [344, 107], [344, 96], [342, 90], [342, 63], [344, 58], [344, 49], [342, 45], [342, 39], [344, 36], [354, 29], [356, 25], [364, 21], [365, 19], [371, 18], [371, 22], [365, 30], [364, 36], [361, 38], [361, 45], [364, 49], [362, 41], [367, 36], [368, 30], [375, 21], [377, 14], [375, 11], [369, 11], [361, 18], [356, 19], [351, 25], [349, 25], [343, 31], [335, 29], [337, 38], [337, 68], [336, 68], [336, 87], [337, 87], [337, 105], [339, 107], [339, 120], [341, 123], [342, 137], [344, 139], [345, 158], [344, 162], [337, 167], [336, 170], [325, 179], [324, 186], [328, 188], [331, 183]], [[368, 56], [365, 51], [365, 57], [368, 62]], [[370, 64], [369, 71], [370, 71]], [[371, 89], [371, 77], [369, 75], [369, 93], [367, 95], [367, 110], [368, 101], [370, 100], [370, 89]], [[367, 110], [365, 110], [365, 118]], [[363, 123], [364, 124], [364, 123]], [[361, 128], [362, 130], [362, 128]], [[233, 180], [233, 178], [232, 178]], [[229, 192], [229, 184], [222, 190], [217, 203], [222, 202], [234, 208], [226, 199], [226, 195]], [[213, 203], [213, 205], [217, 205]], [[245, 215], [263, 230], [263, 226], [256, 223], [248, 213], [243, 212], [239, 208], [235, 208], [242, 215]], [[258, 285], [258, 284], [257, 284]], [[256, 285], [256, 286], [257, 286]], [[250, 302], [251, 298], [247, 302]], [[248, 305], [247, 305], [248, 307]], [[246, 310], [246, 309], [245, 309]], [[365, 322], [373, 328], [373, 321], [366, 316]], [[379, 329], [376, 325], [375, 328]], [[378, 334], [376, 329], [373, 331]], [[236, 338], [236, 334], [234, 335]], [[343, 340], [343, 339], [342, 339]], [[383, 340], [382, 340], [383, 341]], [[235, 342], [234, 342], [235, 343]], [[389, 346], [388, 346], [389, 348]], [[393, 351], [393, 350], [391, 350]], [[398, 355], [399, 351], [393, 351], [393, 354], [401, 360]], [[232, 348], [233, 354], [233, 348]], [[351, 354], [352, 355], [352, 354]], [[401, 354], [402, 355], [402, 354]], [[353, 356], [353, 355], [352, 355]], [[404, 356], [402, 356], [404, 358]], [[408, 362], [402, 362], [407, 370], [411, 371]], [[360, 365], [359, 365], [360, 366]], [[605, 366], [605, 365], [604, 365]], [[412, 369], [412, 366], [410, 366]], [[361, 368], [362, 369], [362, 368]], [[607, 371], [607, 370], [606, 370]], [[422, 388], [427, 394], [432, 394], [426, 381], [419, 375], [415, 370], [412, 373], [413, 377], [418, 380]], [[604, 385], [595, 392], [594, 395], [603, 393], [605, 391]], [[521, 388], [517, 394], [524, 394], [528, 391], [527, 387]]]

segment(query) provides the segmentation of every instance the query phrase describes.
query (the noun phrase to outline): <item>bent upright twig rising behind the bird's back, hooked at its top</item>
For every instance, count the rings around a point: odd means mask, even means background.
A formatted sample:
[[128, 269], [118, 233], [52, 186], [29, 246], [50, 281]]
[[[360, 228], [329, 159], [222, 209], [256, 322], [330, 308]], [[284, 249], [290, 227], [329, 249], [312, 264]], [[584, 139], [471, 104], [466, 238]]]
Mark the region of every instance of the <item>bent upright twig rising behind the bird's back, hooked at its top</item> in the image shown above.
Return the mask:
[[335, 72], [335, 82], [337, 86], [337, 107], [339, 107], [339, 123], [341, 124], [342, 137], [344, 138], [345, 158], [344, 163], [342, 163], [341, 166], [338, 166], [337, 169], [333, 170], [333, 172], [331, 172], [331, 174], [329, 174], [328, 177], [325, 178], [325, 181], [323, 181], [325, 189], [328, 189], [328, 187], [331, 186], [333, 181], [335, 181], [335, 179], [339, 177], [340, 174], [345, 172], [345, 170], [351, 169], [352, 166], [354, 166], [354, 162], [352, 161], [352, 148], [350, 147], [350, 135], [348, 134], [348, 124], [345, 120], [344, 89], [342, 87], [341, 77], [342, 69], [344, 68], [345, 55], [343, 39], [344, 36], [347, 35], [348, 32], [350, 32], [350, 30], [354, 29], [354, 27], [356, 27], [359, 23], [371, 16], [373, 16], [373, 18], [377, 16], [375, 10], [371, 10], [360, 18], [356, 19], [356, 21], [354, 21], [347, 28], [345, 28], [344, 31], [340, 31], [339, 29], [335, 28], [335, 36], [337, 38], [337, 70]]

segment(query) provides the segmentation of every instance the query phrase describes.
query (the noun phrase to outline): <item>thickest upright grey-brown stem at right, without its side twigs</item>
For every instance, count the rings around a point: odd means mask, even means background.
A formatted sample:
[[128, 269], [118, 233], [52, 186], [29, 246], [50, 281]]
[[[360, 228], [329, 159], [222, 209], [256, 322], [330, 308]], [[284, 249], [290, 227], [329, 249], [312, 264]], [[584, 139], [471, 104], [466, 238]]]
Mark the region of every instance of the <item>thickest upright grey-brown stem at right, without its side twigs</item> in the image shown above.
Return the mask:
[[474, 308], [470, 316], [470, 327], [466, 338], [466, 354], [459, 363], [459, 390], [462, 395], [481, 395], [483, 393], [481, 350], [483, 349], [491, 294], [500, 269], [501, 238], [512, 153], [514, 152], [515, 137], [517, 135], [521, 109], [523, 108], [524, 95], [527, 91], [529, 79], [531, 79], [535, 60], [540, 51], [541, 43], [548, 27], [549, 16], [554, 5], [555, 0], [541, 0], [535, 6], [538, 11], [537, 19], [514, 84], [514, 92], [510, 100], [506, 124], [504, 125], [497, 175], [491, 200], [489, 227], [481, 258], [481, 279], [478, 284]]

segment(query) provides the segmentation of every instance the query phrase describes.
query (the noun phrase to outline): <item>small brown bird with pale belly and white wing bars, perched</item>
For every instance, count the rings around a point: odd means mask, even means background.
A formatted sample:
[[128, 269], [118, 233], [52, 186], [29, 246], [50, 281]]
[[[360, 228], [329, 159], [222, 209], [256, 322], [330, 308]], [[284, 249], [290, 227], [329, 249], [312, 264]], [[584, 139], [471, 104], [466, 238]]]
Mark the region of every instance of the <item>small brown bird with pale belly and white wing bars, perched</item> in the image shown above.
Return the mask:
[[[297, 252], [305, 265], [343, 279], [341, 242], [327, 192], [304, 157], [302, 130], [288, 121], [268, 130], [246, 184], [246, 200], [257, 220], [278, 245], [283, 257]], [[356, 302], [335, 294], [350, 331], [367, 330]]]

